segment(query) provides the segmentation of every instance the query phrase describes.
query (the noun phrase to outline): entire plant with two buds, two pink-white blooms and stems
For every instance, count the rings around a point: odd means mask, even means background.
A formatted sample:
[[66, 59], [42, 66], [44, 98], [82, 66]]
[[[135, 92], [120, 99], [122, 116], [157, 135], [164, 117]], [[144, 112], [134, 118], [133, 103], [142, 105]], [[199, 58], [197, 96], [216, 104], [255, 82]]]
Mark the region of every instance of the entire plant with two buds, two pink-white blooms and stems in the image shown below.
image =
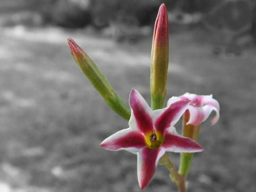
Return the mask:
[[[159, 8], [155, 22], [150, 67], [151, 108], [138, 91], [132, 89], [130, 109], [117, 96], [114, 89], [93, 60], [68, 38], [71, 54], [105, 102], [117, 114], [129, 121], [129, 128], [122, 129], [100, 145], [107, 150], [126, 150], [137, 155], [137, 176], [141, 189], [152, 180], [158, 164], [165, 165], [170, 178], [180, 192], [186, 192], [186, 177], [190, 171], [194, 152], [201, 152], [198, 145], [200, 124], [212, 111], [216, 112], [211, 124], [219, 120], [219, 103], [209, 96], [186, 93], [172, 97], [164, 108], [167, 93], [169, 63], [168, 15], [164, 4]], [[183, 115], [183, 136], [174, 124]], [[169, 158], [168, 152], [181, 154], [179, 171]]]

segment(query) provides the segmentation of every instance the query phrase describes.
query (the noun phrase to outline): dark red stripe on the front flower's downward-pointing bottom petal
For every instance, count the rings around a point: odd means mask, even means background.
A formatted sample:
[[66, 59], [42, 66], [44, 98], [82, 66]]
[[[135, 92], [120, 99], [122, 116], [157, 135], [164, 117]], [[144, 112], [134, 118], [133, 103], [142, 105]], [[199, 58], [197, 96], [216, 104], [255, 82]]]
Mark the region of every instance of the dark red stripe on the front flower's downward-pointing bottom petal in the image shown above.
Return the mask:
[[141, 154], [141, 161], [142, 161], [142, 165], [141, 165], [141, 176], [140, 176], [140, 188], [144, 189], [149, 182], [151, 181], [151, 179], [154, 176], [154, 173], [156, 172], [156, 160], [157, 160], [157, 156], [159, 153], [160, 149], [150, 149], [148, 147], [145, 147], [142, 151]]

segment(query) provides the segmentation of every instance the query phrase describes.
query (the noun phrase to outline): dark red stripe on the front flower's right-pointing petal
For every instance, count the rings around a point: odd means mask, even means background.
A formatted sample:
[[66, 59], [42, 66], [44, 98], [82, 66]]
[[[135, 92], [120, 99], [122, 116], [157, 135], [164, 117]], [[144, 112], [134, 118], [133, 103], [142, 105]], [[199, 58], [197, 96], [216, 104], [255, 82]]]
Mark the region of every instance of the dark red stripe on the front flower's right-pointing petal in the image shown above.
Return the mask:
[[197, 142], [193, 141], [192, 139], [188, 137], [179, 137], [174, 134], [166, 133], [164, 137], [164, 142], [161, 147], [164, 148], [179, 148], [179, 149], [187, 149], [189, 150], [198, 150], [203, 151], [203, 148], [198, 145]]

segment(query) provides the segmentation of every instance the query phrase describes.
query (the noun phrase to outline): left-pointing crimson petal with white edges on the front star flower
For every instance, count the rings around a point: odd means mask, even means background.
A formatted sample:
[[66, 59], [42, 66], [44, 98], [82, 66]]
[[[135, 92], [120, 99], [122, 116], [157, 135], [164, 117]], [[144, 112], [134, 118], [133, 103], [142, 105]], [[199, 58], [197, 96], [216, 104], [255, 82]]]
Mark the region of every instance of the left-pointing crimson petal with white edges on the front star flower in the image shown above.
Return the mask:
[[141, 148], [146, 147], [143, 134], [131, 128], [123, 129], [110, 135], [100, 144], [108, 150], [126, 150], [136, 154]]

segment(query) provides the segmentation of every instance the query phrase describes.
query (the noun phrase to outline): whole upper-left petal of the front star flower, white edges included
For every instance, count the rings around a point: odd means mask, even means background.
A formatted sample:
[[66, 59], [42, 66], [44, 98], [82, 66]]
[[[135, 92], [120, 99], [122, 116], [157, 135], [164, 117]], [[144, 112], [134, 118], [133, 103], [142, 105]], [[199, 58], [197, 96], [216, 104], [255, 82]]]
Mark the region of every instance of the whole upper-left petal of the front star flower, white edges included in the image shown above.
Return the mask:
[[144, 134], [153, 131], [153, 111], [138, 91], [132, 89], [129, 99], [132, 109], [129, 126]]

